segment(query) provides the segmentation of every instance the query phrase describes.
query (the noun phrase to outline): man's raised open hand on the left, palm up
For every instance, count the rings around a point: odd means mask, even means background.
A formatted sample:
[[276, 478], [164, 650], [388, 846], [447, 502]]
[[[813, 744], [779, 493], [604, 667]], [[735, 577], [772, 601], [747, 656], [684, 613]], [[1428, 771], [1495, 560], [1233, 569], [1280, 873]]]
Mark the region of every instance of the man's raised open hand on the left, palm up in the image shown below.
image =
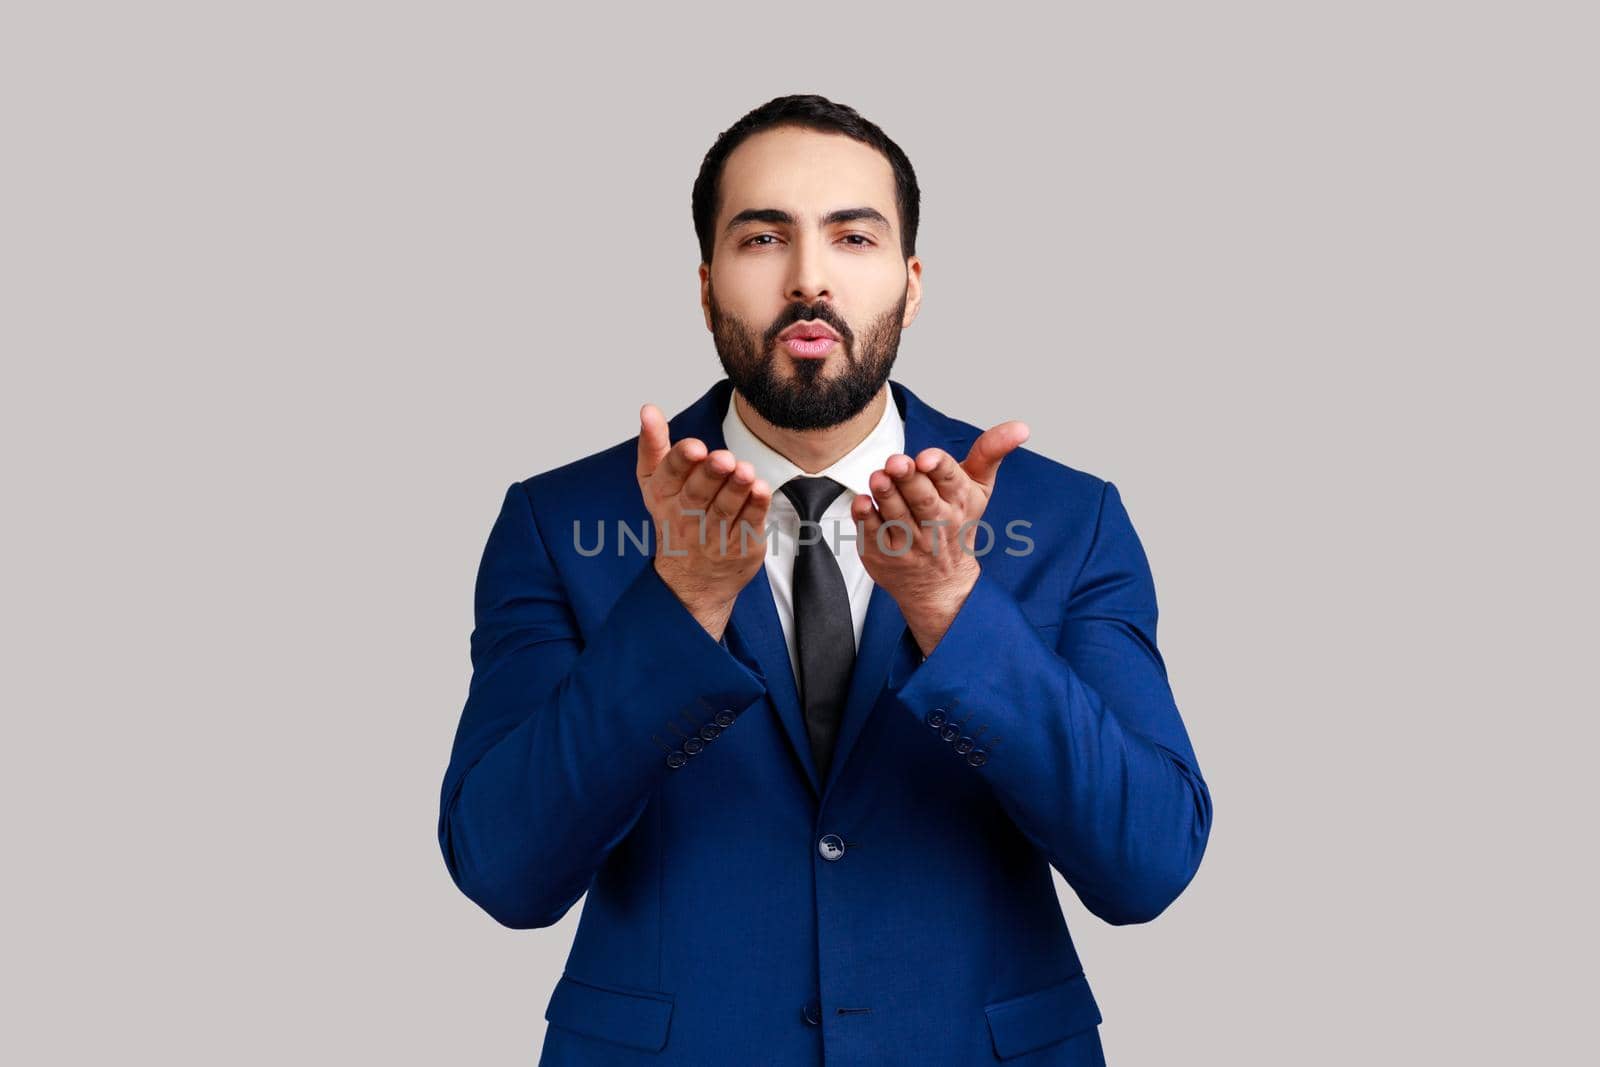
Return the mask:
[[[667, 419], [653, 403], [638, 410], [638, 491], [656, 528], [653, 566], [722, 640], [733, 601], [766, 561], [771, 486], [725, 448], [707, 454], [694, 437], [672, 445]], [[741, 536], [746, 525], [749, 536]]]

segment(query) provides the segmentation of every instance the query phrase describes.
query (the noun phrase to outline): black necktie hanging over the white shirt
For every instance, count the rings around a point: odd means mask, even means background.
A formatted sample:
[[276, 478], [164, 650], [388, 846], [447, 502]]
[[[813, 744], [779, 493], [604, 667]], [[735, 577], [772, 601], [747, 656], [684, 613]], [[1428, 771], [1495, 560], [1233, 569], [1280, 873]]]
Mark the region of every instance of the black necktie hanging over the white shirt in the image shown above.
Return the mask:
[[[827, 506], [845, 491], [832, 478], [789, 478], [779, 491], [794, 501], [800, 518], [818, 523]], [[838, 737], [838, 720], [845, 713], [850, 670], [856, 664], [856, 625], [850, 614], [850, 590], [827, 545], [824, 528], [802, 526], [803, 537], [795, 553], [794, 608], [795, 651], [800, 659], [800, 704], [805, 707], [805, 729], [811, 737], [816, 773], [827, 781]]]

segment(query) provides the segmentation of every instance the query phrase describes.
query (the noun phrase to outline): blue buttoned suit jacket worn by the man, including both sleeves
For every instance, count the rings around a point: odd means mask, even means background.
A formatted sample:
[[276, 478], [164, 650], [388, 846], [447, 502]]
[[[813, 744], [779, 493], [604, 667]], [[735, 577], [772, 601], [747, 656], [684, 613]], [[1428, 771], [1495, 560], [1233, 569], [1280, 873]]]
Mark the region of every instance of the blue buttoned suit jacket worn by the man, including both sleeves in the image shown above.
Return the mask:
[[[979, 427], [890, 387], [907, 454], [966, 456]], [[672, 440], [722, 448], [730, 395]], [[637, 437], [507, 490], [440, 797], [450, 875], [498, 921], [589, 894], [539, 1062], [1104, 1064], [1050, 865], [1144, 923], [1211, 829], [1115, 486], [1011, 453], [925, 662], [875, 587], [819, 781], [765, 568], [712, 640], [651, 565], [635, 462]]]

